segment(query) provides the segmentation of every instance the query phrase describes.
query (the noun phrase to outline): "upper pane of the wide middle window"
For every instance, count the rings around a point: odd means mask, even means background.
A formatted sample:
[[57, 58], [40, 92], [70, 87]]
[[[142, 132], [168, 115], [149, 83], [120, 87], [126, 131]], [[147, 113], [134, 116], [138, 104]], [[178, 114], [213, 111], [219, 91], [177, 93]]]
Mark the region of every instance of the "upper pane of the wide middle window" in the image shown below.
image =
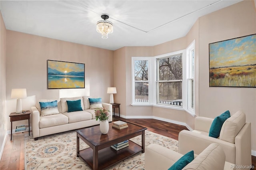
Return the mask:
[[182, 55], [158, 59], [158, 80], [182, 79]]

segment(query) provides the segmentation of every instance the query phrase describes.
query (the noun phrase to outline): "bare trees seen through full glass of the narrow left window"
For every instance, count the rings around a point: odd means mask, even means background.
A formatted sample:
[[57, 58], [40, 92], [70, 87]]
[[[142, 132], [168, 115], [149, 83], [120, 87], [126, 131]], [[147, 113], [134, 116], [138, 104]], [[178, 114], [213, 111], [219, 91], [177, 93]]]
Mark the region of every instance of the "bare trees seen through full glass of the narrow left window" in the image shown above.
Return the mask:
[[148, 60], [134, 61], [135, 101], [148, 102]]

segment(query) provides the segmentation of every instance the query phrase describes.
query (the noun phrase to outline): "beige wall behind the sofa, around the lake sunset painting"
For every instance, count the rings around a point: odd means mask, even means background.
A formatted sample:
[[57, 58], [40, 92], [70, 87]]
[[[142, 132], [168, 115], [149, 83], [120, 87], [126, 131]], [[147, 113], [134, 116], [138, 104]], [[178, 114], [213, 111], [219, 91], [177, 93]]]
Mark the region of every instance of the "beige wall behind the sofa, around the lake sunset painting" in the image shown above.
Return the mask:
[[[34, 95], [36, 100], [59, 98], [58, 89], [47, 89], [47, 59], [85, 63], [85, 93], [90, 97], [102, 97], [103, 102], [109, 103], [107, 87], [114, 81], [113, 51], [7, 30], [7, 115], [16, 109], [16, 100], [10, 99], [14, 88], [26, 88], [28, 99], [33, 99]], [[23, 109], [34, 105], [30, 102], [31, 105], [24, 106], [28, 103], [24, 101], [22, 99]], [[9, 118], [6, 122], [10, 130]], [[14, 122], [14, 127], [17, 123], [22, 122]]]

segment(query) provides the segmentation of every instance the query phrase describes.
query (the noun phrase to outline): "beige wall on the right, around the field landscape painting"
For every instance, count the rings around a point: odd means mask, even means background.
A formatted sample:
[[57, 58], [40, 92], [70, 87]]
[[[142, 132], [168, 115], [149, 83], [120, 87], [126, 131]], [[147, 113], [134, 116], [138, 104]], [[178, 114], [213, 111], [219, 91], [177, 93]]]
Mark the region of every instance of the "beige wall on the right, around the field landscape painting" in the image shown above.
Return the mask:
[[255, 33], [254, 1], [242, 1], [199, 18], [199, 115], [214, 118], [226, 110], [231, 114], [243, 111], [246, 121], [252, 123], [252, 150], [256, 151], [256, 88], [209, 87], [208, 73], [209, 43]]

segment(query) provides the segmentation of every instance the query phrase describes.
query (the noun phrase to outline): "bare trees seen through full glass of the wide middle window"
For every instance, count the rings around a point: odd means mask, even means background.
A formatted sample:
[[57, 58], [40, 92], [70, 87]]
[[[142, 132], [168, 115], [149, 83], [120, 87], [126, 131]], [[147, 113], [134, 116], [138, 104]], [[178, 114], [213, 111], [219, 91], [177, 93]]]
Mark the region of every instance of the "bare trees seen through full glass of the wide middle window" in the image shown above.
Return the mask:
[[182, 106], [182, 54], [157, 59], [158, 103]]

